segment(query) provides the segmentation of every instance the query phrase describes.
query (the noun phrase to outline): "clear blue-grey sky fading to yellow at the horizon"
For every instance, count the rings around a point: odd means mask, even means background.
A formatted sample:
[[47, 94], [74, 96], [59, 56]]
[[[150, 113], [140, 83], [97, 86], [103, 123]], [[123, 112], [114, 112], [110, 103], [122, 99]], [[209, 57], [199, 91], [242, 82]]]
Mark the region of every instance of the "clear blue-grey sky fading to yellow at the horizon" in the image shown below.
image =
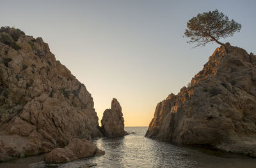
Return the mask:
[[256, 53], [256, 1], [0, 0], [1, 26], [40, 36], [92, 94], [99, 122], [113, 97], [125, 126], [148, 126], [158, 102], [200, 71], [216, 44], [193, 48], [186, 22], [223, 12], [242, 25], [220, 41]]

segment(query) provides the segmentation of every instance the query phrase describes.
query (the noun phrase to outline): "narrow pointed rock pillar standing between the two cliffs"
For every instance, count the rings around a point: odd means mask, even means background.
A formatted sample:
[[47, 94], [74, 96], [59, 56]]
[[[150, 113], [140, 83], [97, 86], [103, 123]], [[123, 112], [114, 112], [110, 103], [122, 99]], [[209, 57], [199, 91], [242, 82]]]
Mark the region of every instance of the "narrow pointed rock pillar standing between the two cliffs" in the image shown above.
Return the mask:
[[119, 102], [113, 98], [111, 109], [106, 109], [101, 120], [102, 133], [106, 137], [119, 137], [127, 135], [124, 130], [124, 118]]

